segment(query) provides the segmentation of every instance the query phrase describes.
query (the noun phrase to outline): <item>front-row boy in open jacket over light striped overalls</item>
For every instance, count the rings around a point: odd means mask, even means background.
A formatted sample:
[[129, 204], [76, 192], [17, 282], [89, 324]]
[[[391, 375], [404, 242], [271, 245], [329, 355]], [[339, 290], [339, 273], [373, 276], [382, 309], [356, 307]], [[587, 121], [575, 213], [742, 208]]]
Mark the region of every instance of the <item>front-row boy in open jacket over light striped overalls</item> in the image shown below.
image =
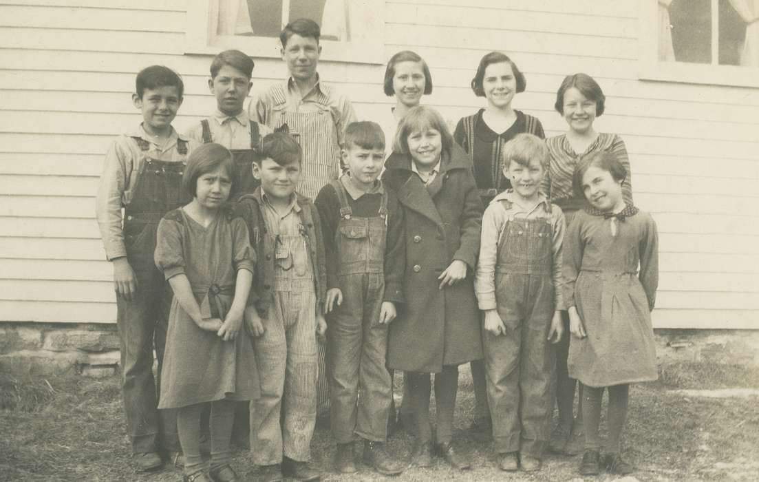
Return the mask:
[[253, 163], [260, 187], [235, 206], [257, 254], [245, 320], [261, 367], [250, 448], [262, 466], [259, 480], [318, 480], [307, 462], [317, 416], [317, 334], [326, 331], [322, 228], [313, 203], [295, 192], [298, 143], [288, 134], [269, 134], [260, 154]]

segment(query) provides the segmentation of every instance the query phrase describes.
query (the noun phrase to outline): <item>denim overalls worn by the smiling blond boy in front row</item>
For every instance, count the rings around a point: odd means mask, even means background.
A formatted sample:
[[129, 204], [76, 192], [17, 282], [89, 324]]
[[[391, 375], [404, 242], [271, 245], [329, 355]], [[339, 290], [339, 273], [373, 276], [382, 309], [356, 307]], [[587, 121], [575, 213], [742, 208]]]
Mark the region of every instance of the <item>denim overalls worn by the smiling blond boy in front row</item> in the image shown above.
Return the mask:
[[[507, 212], [509, 200], [499, 200]], [[554, 312], [552, 208], [544, 216], [509, 216], [499, 233], [496, 306], [505, 335], [483, 330], [487, 395], [496, 452], [541, 458], [549, 438]]]

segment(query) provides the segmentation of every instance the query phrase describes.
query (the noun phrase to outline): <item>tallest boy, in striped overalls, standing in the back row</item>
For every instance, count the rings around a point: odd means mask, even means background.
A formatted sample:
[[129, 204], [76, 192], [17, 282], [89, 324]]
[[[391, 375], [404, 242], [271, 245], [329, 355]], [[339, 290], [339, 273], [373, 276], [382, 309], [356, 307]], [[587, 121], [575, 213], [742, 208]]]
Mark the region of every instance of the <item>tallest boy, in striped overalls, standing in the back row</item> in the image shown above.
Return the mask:
[[[279, 40], [290, 77], [251, 100], [248, 106], [251, 119], [275, 131], [286, 129], [301, 144], [303, 164], [298, 192], [311, 199], [341, 174], [340, 148], [345, 128], [356, 120], [351, 102], [320, 80], [317, 72], [322, 52], [320, 33], [313, 20], [299, 19], [287, 24]], [[317, 389], [320, 417], [329, 414], [325, 358], [326, 346], [320, 343]]]

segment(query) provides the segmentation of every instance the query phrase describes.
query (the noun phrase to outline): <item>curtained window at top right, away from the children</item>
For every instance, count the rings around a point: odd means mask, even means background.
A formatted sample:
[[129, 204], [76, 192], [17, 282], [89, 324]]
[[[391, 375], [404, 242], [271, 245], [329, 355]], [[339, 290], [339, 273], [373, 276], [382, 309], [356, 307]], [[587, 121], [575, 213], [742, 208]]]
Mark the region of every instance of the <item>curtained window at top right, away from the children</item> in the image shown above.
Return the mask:
[[641, 0], [641, 78], [759, 87], [759, 0]]

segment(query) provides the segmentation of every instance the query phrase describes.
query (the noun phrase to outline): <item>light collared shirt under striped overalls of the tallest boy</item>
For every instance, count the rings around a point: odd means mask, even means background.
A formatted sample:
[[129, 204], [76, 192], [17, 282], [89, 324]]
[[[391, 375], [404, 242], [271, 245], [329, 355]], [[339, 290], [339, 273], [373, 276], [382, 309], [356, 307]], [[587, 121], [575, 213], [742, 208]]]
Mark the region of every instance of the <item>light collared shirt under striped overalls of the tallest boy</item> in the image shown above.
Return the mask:
[[[317, 103], [320, 93], [325, 93], [321, 87], [321, 80], [318, 79], [313, 88], [301, 96], [301, 91], [295, 84], [295, 80], [290, 77], [285, 81], [285, 109], [288, 112], [319, 112], [320, 107]], [[340, 146], [345, 139], [345, 128], [351, 122], [357, 121], [356, 113], [353, 110], [348, 97], [337, 92], [334, 87], [329, 87], [326, 91], [327, 106], [332, 112], [332, 120], [335, 122], [335, 128]], [[271, 89], [254, 96], [248, 104], [247, 112], [251, 119], [257, 119], [261, 124], [269, 125], [272, 118], [272, 108], [275, 106]]]

